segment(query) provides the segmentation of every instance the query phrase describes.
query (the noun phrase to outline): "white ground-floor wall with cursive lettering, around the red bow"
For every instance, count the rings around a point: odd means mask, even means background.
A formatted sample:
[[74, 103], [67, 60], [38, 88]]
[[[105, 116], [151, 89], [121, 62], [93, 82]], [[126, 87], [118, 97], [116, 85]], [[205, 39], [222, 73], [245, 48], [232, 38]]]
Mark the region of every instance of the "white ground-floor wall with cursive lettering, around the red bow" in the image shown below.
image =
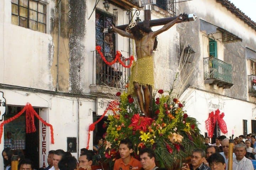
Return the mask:
[[[189, 94], [189, 100], [185, 103], [185, 110], [191, 117], [197, 119], [201, 134], [207, 132], [205, 121], [208, 119], [209, 113], [212, 111], [210, 103], [220, 105], [220, 113], [224, 112], [224, 120], [227, 125], [228, 133], [223, 134], [227, 137], [243, 134], [243, 122], [247, 120], [247, 132], [251, 132], [251, 119], [255, 120], [255, 104], [247, 101], [237, 100], [234, 98], [208, 93], [206, 91], [188, 89], [185, 94]], [[214, 109], [217, 110], [217, 109]]]

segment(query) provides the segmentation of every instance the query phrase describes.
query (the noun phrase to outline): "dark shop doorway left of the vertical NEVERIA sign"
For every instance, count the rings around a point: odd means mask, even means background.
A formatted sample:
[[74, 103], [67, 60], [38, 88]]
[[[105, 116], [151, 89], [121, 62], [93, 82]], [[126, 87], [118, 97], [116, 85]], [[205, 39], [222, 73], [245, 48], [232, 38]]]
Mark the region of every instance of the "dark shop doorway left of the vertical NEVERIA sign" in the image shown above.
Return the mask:
[[[14, 117], [23, 107], [7, 106], [4, 120]], [[39, 108], [34, 108], [39, 115]], [[36, 132], [26, 134], [26, 111], [17, 119], [4, 125], [4, 147], [12, 151], [21, 151], [25, 158], [32, 160], [35, 169], [39, 169], [39, 120], [34, 118]]]

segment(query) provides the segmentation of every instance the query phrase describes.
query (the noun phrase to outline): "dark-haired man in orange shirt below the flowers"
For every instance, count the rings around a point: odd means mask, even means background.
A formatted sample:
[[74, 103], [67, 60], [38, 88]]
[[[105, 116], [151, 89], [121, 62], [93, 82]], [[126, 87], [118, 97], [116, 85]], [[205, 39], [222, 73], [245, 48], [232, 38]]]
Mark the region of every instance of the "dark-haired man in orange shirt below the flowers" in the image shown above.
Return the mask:
[[121, 158], [115, 161], [113, 170], [140, 170], [142, 168], [139, 160], [131, 156], [133, 145], [130, 140], [121, 140], [118, 151]]

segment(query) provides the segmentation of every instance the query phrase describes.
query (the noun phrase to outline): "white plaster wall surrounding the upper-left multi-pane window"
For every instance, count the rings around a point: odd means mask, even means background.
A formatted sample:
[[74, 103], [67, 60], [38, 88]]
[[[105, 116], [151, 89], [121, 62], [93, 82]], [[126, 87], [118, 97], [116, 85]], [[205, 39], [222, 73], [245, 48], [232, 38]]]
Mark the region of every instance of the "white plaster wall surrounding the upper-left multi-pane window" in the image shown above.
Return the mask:
[[[53, 2], [47, 4], [47, 30]], [[52, 36], [11, 24], [11, 1], [1, 1], [0, 83], [53, 90]]]

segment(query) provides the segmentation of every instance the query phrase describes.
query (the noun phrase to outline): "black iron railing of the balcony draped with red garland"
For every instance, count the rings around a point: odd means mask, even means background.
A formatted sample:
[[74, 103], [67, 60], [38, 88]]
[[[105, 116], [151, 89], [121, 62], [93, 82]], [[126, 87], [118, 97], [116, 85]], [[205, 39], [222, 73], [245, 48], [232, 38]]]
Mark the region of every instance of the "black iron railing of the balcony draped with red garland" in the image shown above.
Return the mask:
[[[92, 51], [92, 53], [92, 84], [125, 89], [125, 86], [129, 81], [128, 78], [130, 76], [130, 68], [124, 68], [119, 62], [116, 62], [111, 67], [102, 60], [97, 51]], [[114, 57], [114, 54], [105, 52], [105, 58], [108, 62], [113, 61]], [[125, 63], [125, 65], [129, 65], [129, 60], [125, 61], [125, 58], [123, 57], [123, 63]], [[117, 70], [114, 70], [114, 68]]]

